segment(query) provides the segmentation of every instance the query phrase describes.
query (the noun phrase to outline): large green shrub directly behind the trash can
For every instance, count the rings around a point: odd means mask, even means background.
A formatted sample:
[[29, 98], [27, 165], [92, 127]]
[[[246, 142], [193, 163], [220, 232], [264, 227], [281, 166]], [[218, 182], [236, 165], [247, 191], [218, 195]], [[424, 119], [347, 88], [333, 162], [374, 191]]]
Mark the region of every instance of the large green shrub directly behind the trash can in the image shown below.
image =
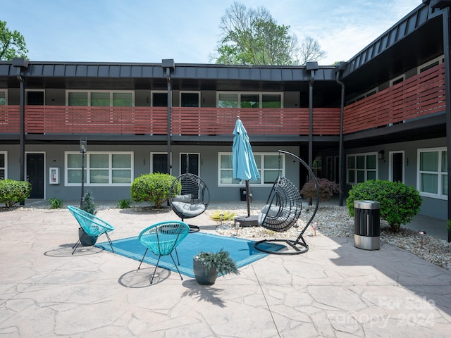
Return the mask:
[[364, 200], [381, 203], [381, 218], [388, 222], [393, 232], [398, 232], [402, 224], [411, 222], [423, 202], [414, 187], [385, 180], [371, 180], [354, 185], [346, 199], [350, 215], [354, 215], [354, 201]]

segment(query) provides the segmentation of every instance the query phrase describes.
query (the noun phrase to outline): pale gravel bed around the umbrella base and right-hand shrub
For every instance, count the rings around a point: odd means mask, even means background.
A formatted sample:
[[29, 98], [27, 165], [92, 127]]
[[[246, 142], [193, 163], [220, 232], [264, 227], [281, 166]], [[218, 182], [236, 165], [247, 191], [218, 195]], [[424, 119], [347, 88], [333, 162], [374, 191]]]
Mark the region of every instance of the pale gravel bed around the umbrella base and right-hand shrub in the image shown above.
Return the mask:
[[[240, 207], [241, 208], [241, 207]], [[240, 208], [230, 208], [229, 210], [219, 210], [222, 212], [234, 212], [235, 215], [246, 215], [247, 211]], [[259, 208], [253, 208], [251, 214], [258, 215]], [[212, 215], [218, 209], [209, 208], [206, 213]], [[311, 218], [313, 208], [309, 211], [302, 208], [302, 213], [295, 226], [286, 232], [274, 232], [264, 227], [240, 227], [235, 228], [233, 220], [218, 223], [216, 232], [226, 236], [237, 236], [247, 239], [295, 239], [299, 232], [304, 229]], [[319, 206], [313, 222], [304, 232], [304, 239], [308, 237], [354, 237], [354, 218], [347, 211], [346, 206]], [[413, 230], [401, 227], [400, 232], [390, 231], [388, 223], [381, 221], [381, 242], [392, 244], [402, 249], [414, 253], [416, 256], [426, 261], [439, 265], [447, 270], [451, 270], [451, 248], [450, 244], [444, 240], [426, 234], [423, 239], [423, 248], [418, 233]]]

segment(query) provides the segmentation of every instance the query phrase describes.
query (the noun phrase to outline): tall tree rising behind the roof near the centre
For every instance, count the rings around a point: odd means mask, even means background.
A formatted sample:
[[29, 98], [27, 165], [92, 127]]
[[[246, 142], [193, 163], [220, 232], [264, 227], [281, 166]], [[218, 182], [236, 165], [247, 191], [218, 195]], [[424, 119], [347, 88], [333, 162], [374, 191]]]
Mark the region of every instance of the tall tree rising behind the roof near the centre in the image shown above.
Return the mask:
[[266, 8], [234, 2], [221, 17], [216, 63], [234, 65], [298, 65], [326, 55], [311, 37], [299, 46], [290, 26], [278, 25]]

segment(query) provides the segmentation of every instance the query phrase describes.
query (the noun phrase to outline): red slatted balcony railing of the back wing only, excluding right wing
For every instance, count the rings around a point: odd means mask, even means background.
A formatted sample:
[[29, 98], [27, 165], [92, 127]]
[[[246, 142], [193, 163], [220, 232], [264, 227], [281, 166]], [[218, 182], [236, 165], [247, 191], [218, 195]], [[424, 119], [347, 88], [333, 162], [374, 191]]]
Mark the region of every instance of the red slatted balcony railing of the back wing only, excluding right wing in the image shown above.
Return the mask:
[[[18, 133], [19, 106], [0, 106], [0, 132]], [[171, 133], [231, 134], [240, 116], [249, 134], [309, 133], [308, 108], [180, 108], [171, 110]], [[25, 106], [27, 134], [167, 134], [167, 108]], [[314, 134], [338, 134], [339, 108], [314, 108]]]

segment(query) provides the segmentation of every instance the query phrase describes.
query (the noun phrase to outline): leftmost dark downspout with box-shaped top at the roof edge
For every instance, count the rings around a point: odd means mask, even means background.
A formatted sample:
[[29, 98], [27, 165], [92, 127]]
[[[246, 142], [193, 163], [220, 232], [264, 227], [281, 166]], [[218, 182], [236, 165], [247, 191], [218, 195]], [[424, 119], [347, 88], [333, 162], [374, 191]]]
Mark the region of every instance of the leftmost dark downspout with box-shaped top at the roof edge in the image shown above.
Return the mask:
[[[28, 60], [26, 58], [13, 58], [13, 67], [17, 68], [17, 79], [20, 85], [20, 134], [19, 134], [19, 166], [20, 181], [25, 181], [25, 80], [22, 77], [23, 70], [28, 68]], [[25, 202], [20, 202], [25, 205]]]

